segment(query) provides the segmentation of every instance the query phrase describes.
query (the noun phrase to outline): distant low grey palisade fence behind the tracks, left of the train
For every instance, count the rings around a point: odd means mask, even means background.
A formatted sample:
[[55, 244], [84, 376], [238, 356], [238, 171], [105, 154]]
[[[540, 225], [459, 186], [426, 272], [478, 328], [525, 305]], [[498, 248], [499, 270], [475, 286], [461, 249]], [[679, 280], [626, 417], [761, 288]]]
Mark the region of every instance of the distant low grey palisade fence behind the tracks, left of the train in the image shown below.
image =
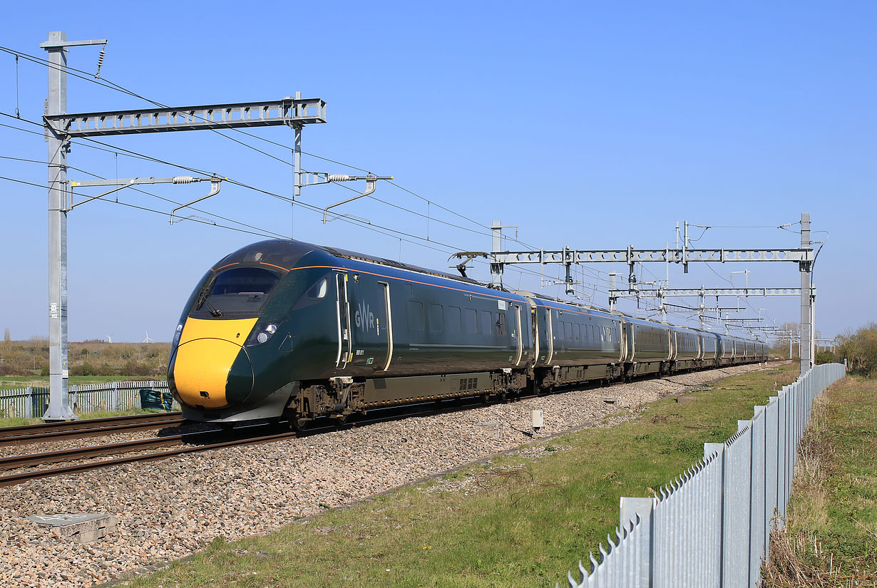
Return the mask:
[[[140, 405], [140, 390], [142, 389], [163, 392], [168, 390], [168, 382], [107, 382], [105, 384], [72, 385], [70, 386], [70, 404], [80, 414], [142, 408]], [[32, 386], [0, 390], [0, 416], [39, 418], [45, 414], [48, 401], [48, 388]], [[180, 409], [176, 400], [174, 400], [173, 409]]]

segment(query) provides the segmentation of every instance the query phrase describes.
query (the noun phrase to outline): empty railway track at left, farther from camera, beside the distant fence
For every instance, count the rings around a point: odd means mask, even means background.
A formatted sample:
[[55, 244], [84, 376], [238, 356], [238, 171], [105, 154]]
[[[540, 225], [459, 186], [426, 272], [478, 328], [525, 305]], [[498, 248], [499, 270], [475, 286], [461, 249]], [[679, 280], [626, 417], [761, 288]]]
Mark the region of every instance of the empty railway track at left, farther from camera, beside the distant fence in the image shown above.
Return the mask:
[[46, 422], [36, 425], [0, 428], [0, 445], [20, 445], [40, 441], [77, 439], [79, 437], [103, 436], [112, 433], [176, 427], [187, 422], [182, 413], [130, 414], [105, 419], [82, 421]]

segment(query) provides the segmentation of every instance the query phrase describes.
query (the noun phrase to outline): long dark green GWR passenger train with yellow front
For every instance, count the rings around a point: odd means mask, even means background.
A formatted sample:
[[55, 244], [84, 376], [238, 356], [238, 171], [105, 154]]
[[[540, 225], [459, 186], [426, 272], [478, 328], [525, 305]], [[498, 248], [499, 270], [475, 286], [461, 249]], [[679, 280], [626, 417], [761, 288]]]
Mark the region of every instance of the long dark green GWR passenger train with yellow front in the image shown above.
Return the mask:
[[193, 421], [303, 428], [766, 358], [758, 341], [273, 239], [203, 275], [176, 326], [168, 385]]

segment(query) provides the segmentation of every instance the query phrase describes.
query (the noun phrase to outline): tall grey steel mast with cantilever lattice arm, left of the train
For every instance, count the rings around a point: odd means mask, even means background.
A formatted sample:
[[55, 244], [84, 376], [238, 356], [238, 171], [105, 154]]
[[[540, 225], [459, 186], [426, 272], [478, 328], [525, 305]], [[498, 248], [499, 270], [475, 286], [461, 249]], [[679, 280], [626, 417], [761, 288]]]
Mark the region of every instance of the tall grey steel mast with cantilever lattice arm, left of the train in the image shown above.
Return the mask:
[[[295, 181], [293, 203], [302, 187], [302, 129], [305, 124], [326, 122], [326, 103], [320, 98], [284, 97], [281, 100], [211, 104], [154, 109], [111, 110], [71, 114], [67, 111], [67, 54], [72, 46], [105, 46], [107, 39], [70, 41], [61, 31], [49, 32], [40, 47], [48, 53], [48, 97], [43, 117], [48, 143], [48, 224], [49, 224], [49, 406], [44, 421], [75, 418], [68, 395], [68, 289], [67, 222], [72, 201], [67, 178], [67, 156], [73, 138], [111, 137], [174, 131], [220, 131], [244, 127], [287, 125], [296, 132], [293, 147]], [[133, 179], [135, 183], [160, 183]], [[168, 180], [168, 179], [162, 179]], [[170, 183], [191, 183], [169, 179]], [[195, 181], [195, 179], [190, 179]], [[210, 180], [218, 191], [219, 178]], [[118, 182], [118, 181], [117, 181]], [[79, 182], [79, 186], [113, 185], [113, 182]], [[118, 183], [115, 185], [119, 185]], [[213, 193], [211, 190], [211, 193]], [[91, 198], [89, 200], [93, 200]], [[203, 200], [203, 199], [202, 199]], [[85, 201], [89, 202], [89, 201]], [[198, 201], [189, 202], [193, 204]], [[78, 202], [81, 204], [83, 202]], [[185, 205], [185, 206], [188, 206]], [[182, 207], [181, 207], [182, 208]], [[173, 217], [172, 217], [173, 220]]]

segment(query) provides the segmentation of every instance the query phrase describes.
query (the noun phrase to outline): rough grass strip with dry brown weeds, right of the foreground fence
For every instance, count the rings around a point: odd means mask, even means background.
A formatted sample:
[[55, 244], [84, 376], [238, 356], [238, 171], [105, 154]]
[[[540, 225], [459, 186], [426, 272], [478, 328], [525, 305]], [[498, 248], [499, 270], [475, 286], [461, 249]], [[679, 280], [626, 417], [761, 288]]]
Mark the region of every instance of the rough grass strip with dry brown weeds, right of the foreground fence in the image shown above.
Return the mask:
[[814, 403], [766, 586], [877, 586], [875, 456], [877, 381], [841, 380]]

